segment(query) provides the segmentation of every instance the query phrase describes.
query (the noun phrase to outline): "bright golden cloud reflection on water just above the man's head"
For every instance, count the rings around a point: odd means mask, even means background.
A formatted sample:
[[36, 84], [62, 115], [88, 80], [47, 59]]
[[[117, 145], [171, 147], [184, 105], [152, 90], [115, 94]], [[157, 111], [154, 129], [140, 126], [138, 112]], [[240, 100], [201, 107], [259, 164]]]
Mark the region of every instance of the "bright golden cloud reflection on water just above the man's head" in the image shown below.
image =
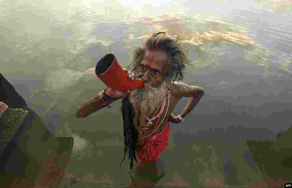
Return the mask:
[[[236, 43], [240, 46], [254, 45], [246, 33], [249, 28], [232, 22], [223, 20], [195, 20], [193, 17], [180, 18], [176, 14], [164, 14], [155, 18], [140, 18], [134, 23], [143, 23], [155, 30], [167, 32], [171, 36], [176, 36], [181, 43], [190, 45], [204, 45], [204, 41], [221, 41], [228, 44]], [[236, 32], [235, 32], [236, 31]], [[144, 36], [140, 37], [144, 38]], [[140, 39], [129, 36], [129, 40]]]

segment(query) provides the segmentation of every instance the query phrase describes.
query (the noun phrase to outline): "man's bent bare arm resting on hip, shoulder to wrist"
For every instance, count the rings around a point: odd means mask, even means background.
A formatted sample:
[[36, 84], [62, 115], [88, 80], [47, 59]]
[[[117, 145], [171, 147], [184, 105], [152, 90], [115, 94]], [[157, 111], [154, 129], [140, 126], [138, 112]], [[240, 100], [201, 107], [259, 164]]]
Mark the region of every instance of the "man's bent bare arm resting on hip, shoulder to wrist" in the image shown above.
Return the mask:
[[176, 81], [170, 86], [170, 90], [173, 95], [176, 95], [179, 98], [190, 97], [190, 100], [183, 109], [183, 112], [180, 113], [182, 118], [192, 111], [205, 93], [204, 89], [201, 87], [189, 86], [186, 83]]

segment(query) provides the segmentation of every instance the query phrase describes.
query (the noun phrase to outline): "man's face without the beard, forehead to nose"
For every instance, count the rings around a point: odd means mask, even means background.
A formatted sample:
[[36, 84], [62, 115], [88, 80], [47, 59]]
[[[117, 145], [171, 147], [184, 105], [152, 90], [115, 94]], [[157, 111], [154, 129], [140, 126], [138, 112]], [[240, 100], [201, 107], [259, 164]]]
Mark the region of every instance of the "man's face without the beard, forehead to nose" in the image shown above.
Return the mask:
[[145, 84], [150, 84], [153, 87], [160, 86], [168, 72], [167, 53], [159, 50], [147, 50], [137, 70], [144, 73], [141, 79]]

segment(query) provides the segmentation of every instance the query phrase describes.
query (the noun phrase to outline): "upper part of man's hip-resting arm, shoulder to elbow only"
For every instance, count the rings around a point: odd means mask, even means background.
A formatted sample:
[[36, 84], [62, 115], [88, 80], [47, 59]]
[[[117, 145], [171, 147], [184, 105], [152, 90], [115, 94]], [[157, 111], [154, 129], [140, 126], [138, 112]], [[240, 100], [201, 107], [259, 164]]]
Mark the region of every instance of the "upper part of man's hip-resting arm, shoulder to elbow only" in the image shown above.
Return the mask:
[[204, 89], [199, 86], [190, 86], [184, 82], [174, 81], [170, 84], [171, 93], [177, 97], [194, 97], [199, 93], [204, 93]]

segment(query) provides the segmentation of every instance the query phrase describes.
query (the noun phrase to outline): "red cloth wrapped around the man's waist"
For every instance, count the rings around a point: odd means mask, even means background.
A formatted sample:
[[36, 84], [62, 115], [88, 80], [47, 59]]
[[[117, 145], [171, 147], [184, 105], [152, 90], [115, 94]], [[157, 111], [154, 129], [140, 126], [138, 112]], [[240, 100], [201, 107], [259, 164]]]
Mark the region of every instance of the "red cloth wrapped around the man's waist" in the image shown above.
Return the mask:
[[160, 153], [167, 148], [170, 136], [169, 122], [159, 133], [145, 138], [145, 145], [137, 147], [137, 156], [141, 162], [157, 161]]

